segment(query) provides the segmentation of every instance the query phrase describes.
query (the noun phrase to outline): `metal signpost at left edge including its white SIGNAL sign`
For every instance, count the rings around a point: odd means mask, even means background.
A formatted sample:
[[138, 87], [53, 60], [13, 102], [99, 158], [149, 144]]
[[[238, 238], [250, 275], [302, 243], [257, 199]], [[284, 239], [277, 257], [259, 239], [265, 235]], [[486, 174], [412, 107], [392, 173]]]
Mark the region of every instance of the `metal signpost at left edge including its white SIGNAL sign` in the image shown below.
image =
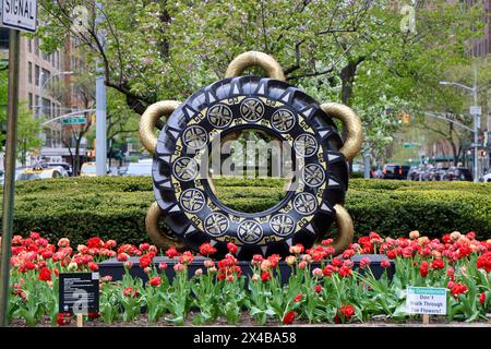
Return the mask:
[[9, 27], [9, 101], [5, 142], [5, 181], [3, 185], [2, 250], [0, 261], [0, 326], [8, 326], [10, 257], [13, 229], [15, 185], [15, 142], [17, 137], [19, 109], [19, 58], [21, 31], [35, 32], [37, 16], [36, 0], [13, 5], [2, 0], [1, 26]]

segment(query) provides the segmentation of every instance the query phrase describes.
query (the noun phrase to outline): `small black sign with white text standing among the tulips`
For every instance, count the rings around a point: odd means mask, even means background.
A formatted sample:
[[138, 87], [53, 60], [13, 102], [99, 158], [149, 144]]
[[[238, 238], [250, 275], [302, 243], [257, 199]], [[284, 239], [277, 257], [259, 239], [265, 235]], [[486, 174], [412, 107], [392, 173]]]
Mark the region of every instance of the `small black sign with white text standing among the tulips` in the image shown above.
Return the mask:
[[99, 312], [99, 273], [64, 273], [59, 280], [60, 313]]

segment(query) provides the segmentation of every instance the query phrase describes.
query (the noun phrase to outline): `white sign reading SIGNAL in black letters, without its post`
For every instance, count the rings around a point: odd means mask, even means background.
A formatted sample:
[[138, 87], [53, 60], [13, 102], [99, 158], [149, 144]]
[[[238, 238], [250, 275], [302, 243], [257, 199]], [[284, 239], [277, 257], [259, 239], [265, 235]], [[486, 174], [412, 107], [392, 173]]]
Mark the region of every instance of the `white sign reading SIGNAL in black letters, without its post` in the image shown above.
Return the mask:
[[1, 26], [36, 32], [37, 0], [2, 0]]

